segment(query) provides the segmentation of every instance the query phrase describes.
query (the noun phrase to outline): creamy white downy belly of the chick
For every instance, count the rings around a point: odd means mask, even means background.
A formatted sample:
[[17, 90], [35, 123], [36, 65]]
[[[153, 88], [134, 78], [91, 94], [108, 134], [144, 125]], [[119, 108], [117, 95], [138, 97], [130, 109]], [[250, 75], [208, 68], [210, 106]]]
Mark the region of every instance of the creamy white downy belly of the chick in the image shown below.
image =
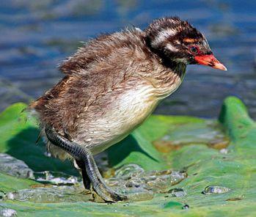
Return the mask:
[[85, 144], [93, 154], [102, 152], [128, 136], [153, 112], [157, 103], [151, 86], [128, 91], [117, 98], [112, 109], [90, 123], [87, 136], [76, 142]]

